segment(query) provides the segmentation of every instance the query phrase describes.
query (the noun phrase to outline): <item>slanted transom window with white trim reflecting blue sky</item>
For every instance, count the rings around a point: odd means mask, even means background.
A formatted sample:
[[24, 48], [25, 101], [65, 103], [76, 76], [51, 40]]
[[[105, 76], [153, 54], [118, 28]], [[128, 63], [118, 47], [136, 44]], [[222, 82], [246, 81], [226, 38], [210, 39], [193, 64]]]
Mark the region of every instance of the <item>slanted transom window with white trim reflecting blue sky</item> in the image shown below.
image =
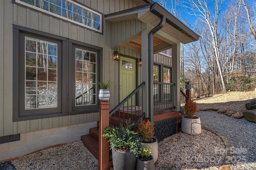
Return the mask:
[[71, 0], [16, 0], [20, 4], [47, 11], [65, 20], [102, 32], [102, 14]]

